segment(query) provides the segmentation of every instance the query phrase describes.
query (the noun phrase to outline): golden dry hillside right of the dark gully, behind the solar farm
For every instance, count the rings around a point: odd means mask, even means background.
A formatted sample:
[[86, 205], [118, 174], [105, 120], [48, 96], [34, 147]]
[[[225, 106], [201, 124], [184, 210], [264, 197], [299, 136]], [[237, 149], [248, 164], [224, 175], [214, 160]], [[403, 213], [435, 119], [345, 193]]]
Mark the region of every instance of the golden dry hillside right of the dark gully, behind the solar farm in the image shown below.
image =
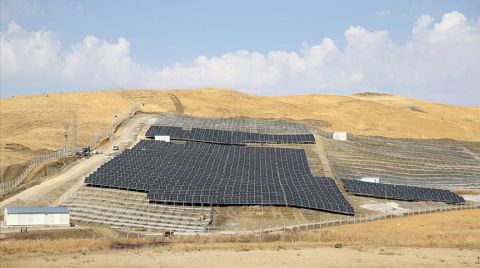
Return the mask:
[[[138, 93], [140, 93], [139, 91]], [[480, 107], [460, 107], [397, 96], [249, 96], [236, 91], [172, 91], [185, 114], [206, 117], [316, 119], [355, 134], [480, 140]], [[133, 94], [133, 93], [132, 93]], [[415, 105], [426, 113], [412, 111]]]

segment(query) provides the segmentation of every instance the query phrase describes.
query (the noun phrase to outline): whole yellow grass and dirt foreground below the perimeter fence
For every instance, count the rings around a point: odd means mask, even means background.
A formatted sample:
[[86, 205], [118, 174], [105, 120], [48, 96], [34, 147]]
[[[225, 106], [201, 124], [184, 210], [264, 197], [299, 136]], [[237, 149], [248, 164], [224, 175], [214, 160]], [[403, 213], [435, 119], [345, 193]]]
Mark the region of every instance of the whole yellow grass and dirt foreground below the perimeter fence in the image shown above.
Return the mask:
[[[50, 236], [17, 234], [0, 241], [0, 258], [7, 267], [476, 267], [479, 218], [476, 209], [299, 233], [158, 240], [116, 239], [111, 230], [98, 227], [82, 232], [84, 238], [78, 230], [72, 230], [71, 237], [49, 231]], [[266, 257], [273, 259], [265, 262]], [[154, 259], [159, 262], [152, 263]]]

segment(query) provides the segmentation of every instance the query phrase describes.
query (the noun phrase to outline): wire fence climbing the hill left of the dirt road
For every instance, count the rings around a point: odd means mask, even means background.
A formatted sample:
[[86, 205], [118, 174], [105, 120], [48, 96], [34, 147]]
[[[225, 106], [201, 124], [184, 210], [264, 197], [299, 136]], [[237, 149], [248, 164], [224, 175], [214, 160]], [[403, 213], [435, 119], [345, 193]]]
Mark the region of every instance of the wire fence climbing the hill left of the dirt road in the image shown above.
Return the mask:
[[[128, 109], [127, 112], [123, 113], [121, 116], [118, 116], [113, 120], [113, 122], [103, 131], [101, 131], [99, 134], [97, 134], [89, 143], [87, 146], [90, 148], [94, 148], [97, 142], [102, 139], [110, 136], [114, 130], [123, 123], [126, 119], [130, 118], [135, 114], [135, 112], [138, 111], [140, 105], [135, 102], [130, 109]], [[76, 149], [74, 149], [76, 150]], [[5, 193], [7, 191], [10, 191], [20, 185], [26, 177], [30, 174], [30, 172], [35, 169], [38, 165], [41, 165], [43, 163], [46, 163], [51, 160], [59, 159], [62, 157], [69, 156], [71, 154], [75, 154], [76, 152], [69, 152], [68, 150], [61, 149], [53, 153], [48, 153], [44, 155], [40, 155], [35, 157], [30, 164], [28, 164], [27, 168], [20, 174], [18, 175], [15, 179], [6, 181], [6, 182], [0, 182], [0, 194]]]

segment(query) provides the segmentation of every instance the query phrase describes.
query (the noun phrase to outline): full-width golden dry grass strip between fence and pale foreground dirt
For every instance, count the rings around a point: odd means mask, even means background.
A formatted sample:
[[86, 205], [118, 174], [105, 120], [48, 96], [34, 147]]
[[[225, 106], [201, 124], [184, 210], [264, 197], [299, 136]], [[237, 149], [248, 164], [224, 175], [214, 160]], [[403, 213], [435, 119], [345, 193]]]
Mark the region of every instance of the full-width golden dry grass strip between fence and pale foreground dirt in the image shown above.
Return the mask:
[[[0, 242], [0, 252], [78, 252], [112, 248], [151, 247], [170, 251], [228, 249], [299, 249], [306, 247], [460, 247], [480, 249], [480, 210], [420, 215], [299, 233], [268, 235], [174, 236], [171, 238], [16, 239]], [[455, 228], [452, 228], [455, 226]], [[99, 233], [99, 237], [102, 234]], [[164, 243], [165, 242], [165, 243]]]

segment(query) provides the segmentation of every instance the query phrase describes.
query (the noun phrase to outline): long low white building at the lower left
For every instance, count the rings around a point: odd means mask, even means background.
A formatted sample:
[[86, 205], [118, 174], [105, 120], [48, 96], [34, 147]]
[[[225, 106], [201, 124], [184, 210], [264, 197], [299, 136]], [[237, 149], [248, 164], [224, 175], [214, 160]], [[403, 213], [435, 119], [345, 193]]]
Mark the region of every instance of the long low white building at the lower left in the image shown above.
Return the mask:
[[6, 226], [69, 226], [70, 210], [66, 207], [5, 208]]

